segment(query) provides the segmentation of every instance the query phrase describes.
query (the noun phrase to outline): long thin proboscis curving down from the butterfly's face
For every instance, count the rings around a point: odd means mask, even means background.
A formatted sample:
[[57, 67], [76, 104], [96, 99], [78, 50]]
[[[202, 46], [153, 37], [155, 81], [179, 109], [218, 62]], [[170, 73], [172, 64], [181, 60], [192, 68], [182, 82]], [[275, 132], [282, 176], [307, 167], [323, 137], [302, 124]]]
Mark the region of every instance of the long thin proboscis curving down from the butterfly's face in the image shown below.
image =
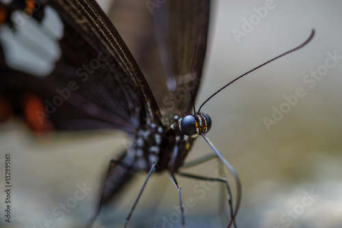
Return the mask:
[[234, 167], [226, 160], [226, 158], [224, 158], [224, 156], [222, 156], [222, 154], [218, 151], [218, 149], [215, 148], [213, 143], [211, 143], [211, 141], [208, 139], [207, 135], [205, 135], [205, 133], [200, 133], [200, 134], [205, 139], [205, 141], [207, 141], [207, 143], [209, 144], [211, 149], [213, 149], [215, 154], [218, 156], [218, 158], [220, 158], [220, 160], [228, 168], [228, 170], [231, 171], [231, 173], [233, 174], [233, 177], [235, 178], [235, 183], [237, 185], [237, 201], [236, 201], [236, 205], [235, 205], [235, 212], [232, 216], [231, 222], [227, 226], [227, 228], [228, 228], [228, 227], [231, 227], [231, 225], [234, 223], [235, 216], [237, 215], [237, 212], [238, 212], [239, 207], [240, 207], [241, 192], [242, 192], [240, 177], [239, 177], [239, 175], [237, 175], [237, 171], [234, 169]]

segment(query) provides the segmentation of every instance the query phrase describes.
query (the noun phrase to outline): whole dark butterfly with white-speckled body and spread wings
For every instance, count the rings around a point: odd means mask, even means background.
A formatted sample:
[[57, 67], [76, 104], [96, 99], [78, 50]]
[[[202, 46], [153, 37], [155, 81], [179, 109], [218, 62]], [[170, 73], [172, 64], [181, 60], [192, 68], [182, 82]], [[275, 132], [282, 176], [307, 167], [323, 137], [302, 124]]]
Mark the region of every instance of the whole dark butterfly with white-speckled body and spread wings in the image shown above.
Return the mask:
[[[139, 171], [148, 173], [144, 186], [153, 172], [170, 173], [179, 192], [183, 226], [181, 186], [175, 175], [224, 182], [231, 207], [227, 227], [236, 227], [241, 182], [233, 166], [207, 138], [211, 119], [200, 112], [208, 100], [234, 81], [209, 97], [197, 111], [194, 106], [207, 49], [210, 1], [121, 4], [134, 4], [138, 9], [134, 16], [139, 29], [129, 31], [127, 38], [131, 50], [96, 1], [1, 0], [1, 118], [23, 113], [38, 132], [120, 129], [129, 134], [131, 146], [111, 160], [98, 208], [88, 227], [103, 203]], [[118, 26], [129, 27], [131, 17]], [[184, 164], [199, 135], [215, 153]], [[179, 171], [216, 157], [235, 178], [234, 201], [224, 177], [213, 179]]]

